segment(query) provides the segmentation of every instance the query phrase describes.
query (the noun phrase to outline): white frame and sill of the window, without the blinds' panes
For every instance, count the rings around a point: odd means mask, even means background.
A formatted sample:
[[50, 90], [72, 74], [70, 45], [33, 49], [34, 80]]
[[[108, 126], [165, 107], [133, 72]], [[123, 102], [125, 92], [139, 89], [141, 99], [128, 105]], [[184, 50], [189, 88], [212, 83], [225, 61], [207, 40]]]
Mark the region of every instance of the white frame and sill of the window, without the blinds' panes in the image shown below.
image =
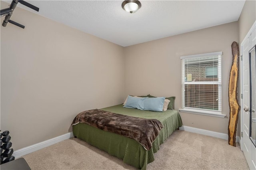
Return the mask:
[[[214, 53], [204, 53], [204, 54], [196, 54], [196, 55], [186, 55], [180, 57], [182, 60], [182, 77], [185, 77], [185, 69], [184, 69], [184, 59], [190, 59], [190, 58], [196, 58], [196, 57], [208, 57], [218, 55], [218, 70], [221, 70], [221, 56], [222, 51], [214, 52]], [[188, 84], [218, 84], [218, 100], [220, 101], [218, 104], [218, 111], [210, 110], [210, 109], [198, 109], [198, 108], [192, 108], [192, 107], [184, 107], [185, 106], [185, 85]], [[222, 115], [221, 113], [221, 71], [218, 72], [218, 81], [210, 82], [210, 81], [201, 81], [201, 82], [191, 82], [191, 81], [185, 81], [182, 79], [182, 109], [179, 109], [180, 112], [184, 113], [192, 113], [192, 114], [198, 114], [198, 115], [207, 115], [207, 116], [213, 116], [213, 117], [222, 117], [224, 118], [226, 115]]]

